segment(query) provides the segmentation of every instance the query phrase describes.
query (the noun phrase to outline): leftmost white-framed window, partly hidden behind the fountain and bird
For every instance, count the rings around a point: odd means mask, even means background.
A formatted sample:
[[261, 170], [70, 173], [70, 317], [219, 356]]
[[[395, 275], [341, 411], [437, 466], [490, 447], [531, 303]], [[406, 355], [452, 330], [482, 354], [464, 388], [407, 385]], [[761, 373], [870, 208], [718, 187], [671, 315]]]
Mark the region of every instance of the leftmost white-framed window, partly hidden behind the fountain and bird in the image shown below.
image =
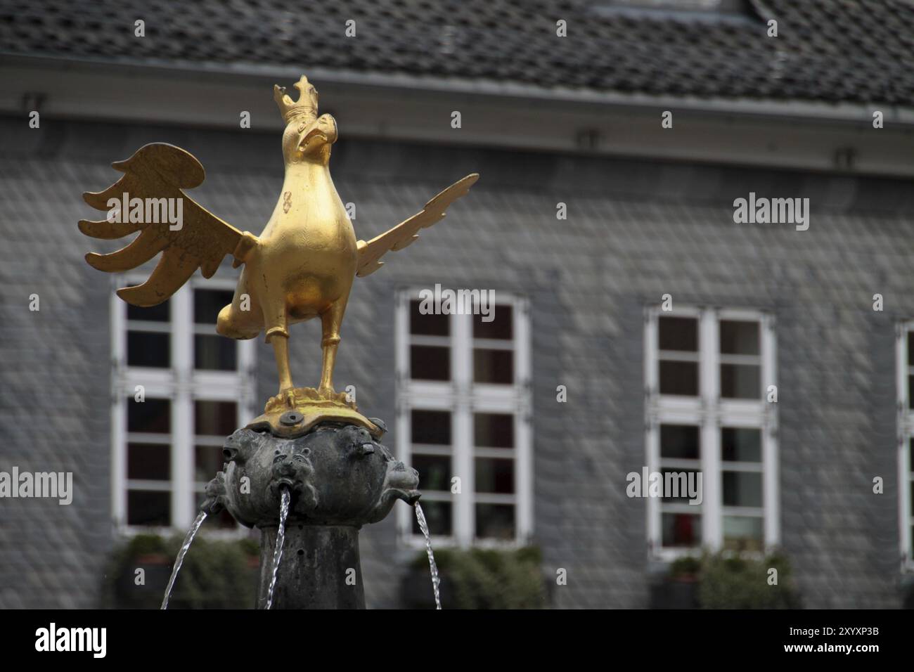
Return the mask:
[[[230, 281], [194, 280], [150, 308], [114, 297], [112, 492], [122, 527], [189, 527], [226, 436], [252, 417], [253, 343], [215, 330], [232, 293]], [[224, 514], [205, 527], [236, 524]]]

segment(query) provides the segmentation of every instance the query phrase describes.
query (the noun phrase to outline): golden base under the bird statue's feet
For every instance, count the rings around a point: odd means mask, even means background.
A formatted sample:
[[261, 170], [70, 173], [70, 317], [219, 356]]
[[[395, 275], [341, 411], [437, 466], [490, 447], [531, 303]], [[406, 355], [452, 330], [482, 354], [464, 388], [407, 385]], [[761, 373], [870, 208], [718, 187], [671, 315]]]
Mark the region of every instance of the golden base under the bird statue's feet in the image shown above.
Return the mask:
[[314, 388], [287, 389], [271, 397], [263, 415], [251, 421], [245, 429], [268, 430], [273, 436], [293, 439], [310, 432], [314, 425], [324, 421], [364, 427], [375, 439], [384, 433], [377, 424], [358, 412], [354, 401], [346, 400], [345, 392], [325, 395]]

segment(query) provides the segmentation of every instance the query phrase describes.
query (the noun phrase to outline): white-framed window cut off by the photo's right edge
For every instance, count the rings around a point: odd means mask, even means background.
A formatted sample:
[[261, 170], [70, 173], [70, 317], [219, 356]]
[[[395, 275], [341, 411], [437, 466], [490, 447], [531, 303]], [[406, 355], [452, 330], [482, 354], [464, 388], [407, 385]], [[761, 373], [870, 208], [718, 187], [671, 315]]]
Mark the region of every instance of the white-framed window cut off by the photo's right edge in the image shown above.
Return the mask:
[[902, 565], [914, 569], [914, 321], [898, 326], [898, 520]]

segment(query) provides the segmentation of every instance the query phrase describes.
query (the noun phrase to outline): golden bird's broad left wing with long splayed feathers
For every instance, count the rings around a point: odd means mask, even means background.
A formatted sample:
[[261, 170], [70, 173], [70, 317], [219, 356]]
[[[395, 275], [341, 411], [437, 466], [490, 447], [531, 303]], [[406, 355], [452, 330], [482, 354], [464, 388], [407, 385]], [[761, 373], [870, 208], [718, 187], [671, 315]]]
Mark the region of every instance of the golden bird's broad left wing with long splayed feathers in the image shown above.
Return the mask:
[[[206, 173], [200, 162], [180, 147], [146, 144], [129, 159], [115, 162], [112, 167], [123, 173], [117, 182], [104, 191], [82, 195], [92, 208], [109, 211], [109, 217], [101, 221], [81, 219], [80, 231], [106, 240], [136, 231], [140, 231], [140, 235], [111, 254], [90, 252], [86, 261], [99, 271], [122, 272], [163, 252], [145, 283], [118, 290], [118, 296], [128, 304], [161, 304], [186, 283], [197, 268], [208, 278], [216, 272], [225, 255], [235, 254], [236, 261], [241, 261], [241, 251], [250, 249], [251, 240], [256, 240], [250, 233], [235, 229], [185, 195], [182, 187], [197, 187]], [[133, 201], [134, 198], [141, 201]], [[127, 210], [123, 209], [125, 200]], [[119, 204], [119, 218], [112, 211], [115, 201]], [[178, 213], [180, 218], [176, 217]], [[179, 221], [172, 223], [172, 219]]]

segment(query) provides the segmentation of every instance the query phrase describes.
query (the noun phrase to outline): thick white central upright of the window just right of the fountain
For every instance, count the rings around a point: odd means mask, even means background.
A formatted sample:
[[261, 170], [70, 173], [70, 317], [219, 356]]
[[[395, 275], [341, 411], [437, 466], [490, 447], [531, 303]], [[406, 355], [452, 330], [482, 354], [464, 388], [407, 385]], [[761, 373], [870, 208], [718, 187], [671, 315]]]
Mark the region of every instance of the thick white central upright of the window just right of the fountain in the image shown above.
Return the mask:
[[475, 537], [475, 470], [473, 464], [473, 315], [451, 315], [451, 371], [457, 401], [452, 413], [453, 475], [461, 494], [452, 496], [454, 539], [464, 548]]

